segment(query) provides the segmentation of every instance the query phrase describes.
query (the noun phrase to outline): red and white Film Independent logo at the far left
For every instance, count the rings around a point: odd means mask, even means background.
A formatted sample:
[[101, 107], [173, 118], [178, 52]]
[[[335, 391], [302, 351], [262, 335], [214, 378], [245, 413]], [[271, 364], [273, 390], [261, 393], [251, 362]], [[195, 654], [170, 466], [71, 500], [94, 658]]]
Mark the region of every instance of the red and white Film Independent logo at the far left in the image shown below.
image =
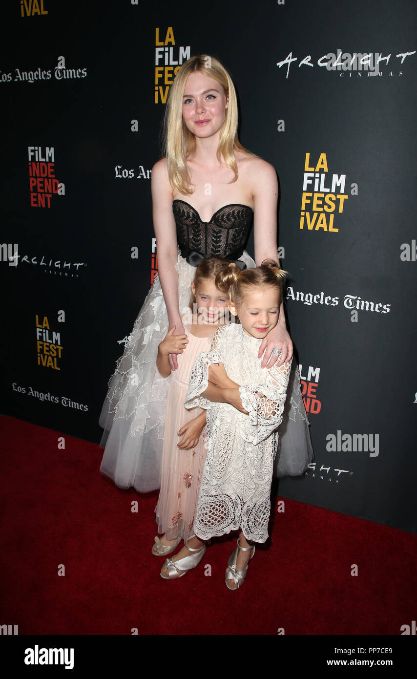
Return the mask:
[[53, 146], [28, 146], [31, 207], [50, 208], [53, 194], [65, 196], [65, 184], [55, 177]]

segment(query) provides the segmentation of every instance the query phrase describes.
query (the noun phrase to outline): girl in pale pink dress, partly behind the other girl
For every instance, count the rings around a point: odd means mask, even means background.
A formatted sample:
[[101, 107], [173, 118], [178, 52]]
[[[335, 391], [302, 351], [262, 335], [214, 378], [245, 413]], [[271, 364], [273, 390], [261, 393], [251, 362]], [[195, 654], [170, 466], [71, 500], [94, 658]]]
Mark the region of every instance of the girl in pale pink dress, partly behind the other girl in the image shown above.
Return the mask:
[[[225, 274], [230, 261], [209, 257], [196, 268], [192, 282], [191, 307], [197, 313], [181, 319], [186, 335], [174, 335], [172, 327], [158, 348], [156, 361], [162, 377], [171, 375], [166, 404], [162, 452], [161, 489], [156, 506], [158, 532], [152, 553], [162, 556], [172, 552], [180, 540], [194, 536], [193, 520], [206, 446], [202, 432], [206, 411], [200, 407], [186, 410], [183, 403], [189, 374], [198, 354], [210, 348], [213, 333], [227, 320], [227, 289], [215, 286], [216, 277]], [[186, 318], [188, 316], [188, 318]], [[185, 350], [184, 350], [185, 349]], [[171, 373], [168, 354], [177, 354], [178, 369]]]

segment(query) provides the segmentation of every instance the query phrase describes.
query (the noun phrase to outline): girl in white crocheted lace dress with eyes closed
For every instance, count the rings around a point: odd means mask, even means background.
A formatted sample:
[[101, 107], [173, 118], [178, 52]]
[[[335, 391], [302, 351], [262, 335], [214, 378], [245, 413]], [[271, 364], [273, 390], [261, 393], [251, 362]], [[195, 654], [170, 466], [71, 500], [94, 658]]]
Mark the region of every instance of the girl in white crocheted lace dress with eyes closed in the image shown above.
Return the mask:
[[204, 541], [240, 529], [225, 583], [238, 589], [247, 575], [253, 542], [268, 538], [272, 467], [291, 361], [270, 369], [258, 358], [262, 339], [278, 322], [285, 272], [271, 261], [240, 271], [231, 263], [215, 284], [228, 286], [228, 306], [240, 323], [217, 329], [198, 356], [185, 407], [207, 411], [208, 450], [194, 519], [195, 536], [166, 559], [170, 579], [194, 568]]

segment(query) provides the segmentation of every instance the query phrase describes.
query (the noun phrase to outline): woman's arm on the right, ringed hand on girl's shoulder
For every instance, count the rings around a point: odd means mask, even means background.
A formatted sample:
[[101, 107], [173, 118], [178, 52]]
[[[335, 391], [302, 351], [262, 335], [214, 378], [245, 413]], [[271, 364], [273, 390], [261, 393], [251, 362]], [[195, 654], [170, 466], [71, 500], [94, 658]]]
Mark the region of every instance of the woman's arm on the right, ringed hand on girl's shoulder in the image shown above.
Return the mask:
[[[276, 172], [270, 163], [261, 158], [253, 159], [253, 182], [252, 195], [255, 215], [254, 242], [255, 262], [259, 266], [264, 259], [274, 259], [280, 266], [278, 249], [276, 246], [276, 206], [278, 202], [278, 180]], [[282, 353], [277, 365], [289, 361], [293, 355], [293, 343], [285, 325], [285, 312], [283, 301], [280, 304], [278, 323], [261, 342], [258, 358], [264, 354], [261, 367], [272, 367], [276, 362], [276, 356], [271, 357], [274, 346], [278, 346]]]

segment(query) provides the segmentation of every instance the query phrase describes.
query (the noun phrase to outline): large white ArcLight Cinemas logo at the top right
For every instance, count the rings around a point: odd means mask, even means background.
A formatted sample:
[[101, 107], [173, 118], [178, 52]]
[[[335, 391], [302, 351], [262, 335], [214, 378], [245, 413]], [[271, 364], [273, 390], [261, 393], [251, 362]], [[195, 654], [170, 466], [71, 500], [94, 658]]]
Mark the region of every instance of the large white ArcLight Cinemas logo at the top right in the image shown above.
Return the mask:
[[[334, 52], [327, 52], [323, 56], [319, 57], [315, 64], [319, 68], [325, 68], [326, 71], [336, 71], [340, 77], [352, 77], [352, 73], [355, 73], [356, 77], [362, 77], [362, 75], [381, 77], [383, 74], [388, 75], [388, 77], [393, 77], [394, 75], [403, 75], [403, 71], [397, 71], [398, 67], [402, 67], [405, 59], [416, 54], [416, 50], [412, 52], [398, 52], [393, 56], [391, 52], [382, 56], [382, 52], [343, 52], [339, 48], [337, 54]], [[397, 61], [395, 61], [397, 59]], [[311, 60], [311, 54], [308, 54], [304, 58], [300, 59], [297, 56], [293, 56], [291, 51], [288, 56], [282, 61], [276, 62], [278, 69], [287, 67], [286, 79], [289, 76], [289, 71], [291, 65], [295, 66], [295, 62], [299, 62], [297, 65], [297, 70], [302, 69], [302, 67], [310, 67], [314, 69], [314, 62]], [[382, 67], [386, 67], [382, 69]], [[310, 70], [308, 69], [308, 70]], [[291, 72], [294, 69], [291, 69]]]

